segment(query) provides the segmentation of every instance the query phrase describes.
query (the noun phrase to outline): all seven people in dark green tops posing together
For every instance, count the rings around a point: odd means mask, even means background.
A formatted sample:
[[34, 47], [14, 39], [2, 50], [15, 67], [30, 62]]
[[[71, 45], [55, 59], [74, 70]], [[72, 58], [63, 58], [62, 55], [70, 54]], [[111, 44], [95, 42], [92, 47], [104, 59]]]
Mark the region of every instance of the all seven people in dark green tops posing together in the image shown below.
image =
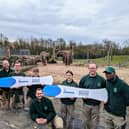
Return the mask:
[[[88, 74], [80, 79], [79, 84], [73, 79], [73, 72], [66, 71], [66, 79], [61, 83], [64, 86], [79, 87], [84, 89], [106, 88], [108, 93], [107, 102], [89, 98], [83, 99], [83, 121], [84, 129], [125, 129], [126, 107], [129, 106], [129, 86], [116, 74], [115, 68], [108, 66], [103, 73], [104, 79], [97, 73], [95, 63], [88, 64]], [[10, 69], [9, 62], [3, 61], [3, 69], [0, 77], [25, 76], [21, 72], [21, 63], [14, 64], [14, 70]], [[39, 69], [33, 69], [33, 76], [39, 77]], [[43, 86], [28, 86], [27, 104], [30, 117], [38, 125], [45, 128], [51, 123], [52, 128], [73, 129], [72, 123], [75, 119], [75, 102], [77, 98], [60, 98], [61, 110], [59, 117], [56, 114], [53, 103], [46, 98], [42, 91]], [[1, 88], [0, 95], [4, 93], [6, 108], [23, 108], [23, 88]]]

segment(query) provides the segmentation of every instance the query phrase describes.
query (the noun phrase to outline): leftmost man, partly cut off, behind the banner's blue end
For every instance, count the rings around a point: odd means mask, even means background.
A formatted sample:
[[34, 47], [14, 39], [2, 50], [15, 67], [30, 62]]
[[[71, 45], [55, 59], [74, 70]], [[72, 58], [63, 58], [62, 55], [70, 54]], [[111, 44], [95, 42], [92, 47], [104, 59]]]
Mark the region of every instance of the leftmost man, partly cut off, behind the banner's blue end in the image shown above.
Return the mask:
[[[10, 68], [9, 61], [4, 59], [2, 62], [3, 69], [0, 71], [0, 78], [8, 77], [11, 72], [14, 70]], [[0, 88], [0, 97], [2, 99], [1, 107], [9, 109], [9, 88]]]

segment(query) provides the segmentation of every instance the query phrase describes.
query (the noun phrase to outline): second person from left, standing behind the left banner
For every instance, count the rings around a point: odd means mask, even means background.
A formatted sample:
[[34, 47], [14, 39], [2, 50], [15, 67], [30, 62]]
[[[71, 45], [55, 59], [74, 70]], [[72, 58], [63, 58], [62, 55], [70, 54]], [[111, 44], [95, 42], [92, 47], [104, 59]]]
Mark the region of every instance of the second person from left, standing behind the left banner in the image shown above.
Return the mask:
[[[14, 64], [14, 72], [10, 73], [9, 76], [25, 76], [21, 68], [21, 62], [16, 61]], [[10, 90], [10, 109], [23, 109], [23, 96], [23, 87], [12, 88]]]

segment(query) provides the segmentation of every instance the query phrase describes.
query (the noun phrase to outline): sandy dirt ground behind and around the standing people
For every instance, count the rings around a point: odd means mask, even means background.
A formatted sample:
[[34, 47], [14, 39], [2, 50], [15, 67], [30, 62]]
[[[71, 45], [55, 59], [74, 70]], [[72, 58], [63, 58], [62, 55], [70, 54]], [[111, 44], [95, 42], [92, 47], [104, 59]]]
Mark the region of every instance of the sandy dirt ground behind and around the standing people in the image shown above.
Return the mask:
[[[43, 66], [39, 64], [37, 66], [40, 69], [40, 76], [52, 75], [54, 78], [55, 84], [60, 84], [65, 79], [65, 72], [67, 70], [72, 70], [74, 73], [74, 80], [79, 82], [81, 77], [88, 73], [86, 66], [65, 66], [61, 63], [59, 64], [48, 64]], [[104, 67], [98, 68], [98, 73], [104, 77]], [[120, 78], [125, 80], [129, 84], [129, 69], [126, 68], [116, 68], [116, 73]], [[27, 75], [32, 74], [32, 70], [26, 72]], [[50, 98], [55, 106], [56, 112], [60, 113], [60, 101], [59, 99]], [[81, 99], [77, 99], [75, 103], [75, 117], [83, 119], [82, 114], [83, 104]], [[129, 114], [129, 113], [128, 113]], [[27, 117], [26, 117], [27, 116]], [[32, 121], [26, 112], [10, 112], [10, 111], [1, 111], [0, 110], [0, 129], [30, 129]], [[129, 129], [129, 115], [127, 117], [127, 128]]]

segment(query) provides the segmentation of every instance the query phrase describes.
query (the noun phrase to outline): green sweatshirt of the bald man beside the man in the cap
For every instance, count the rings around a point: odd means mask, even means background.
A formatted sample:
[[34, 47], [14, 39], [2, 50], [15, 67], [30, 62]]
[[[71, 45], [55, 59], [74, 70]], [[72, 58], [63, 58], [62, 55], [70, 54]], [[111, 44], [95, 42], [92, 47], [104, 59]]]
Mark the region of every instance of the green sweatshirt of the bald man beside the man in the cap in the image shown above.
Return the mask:
[[[97, 74], [95, 77], [91, 77], [88, 74], [82, 77], [79, 83], [79, 87], [86, 88], [86, 89], [100, 89], [100, 88], [105, 88], [106, 83], [105, 83], [105, 79], [100, 75]], [[83, 102], [88, 105], [100, 104], [100, 101], [93, 100], [93, 99], [83, 99]]]

